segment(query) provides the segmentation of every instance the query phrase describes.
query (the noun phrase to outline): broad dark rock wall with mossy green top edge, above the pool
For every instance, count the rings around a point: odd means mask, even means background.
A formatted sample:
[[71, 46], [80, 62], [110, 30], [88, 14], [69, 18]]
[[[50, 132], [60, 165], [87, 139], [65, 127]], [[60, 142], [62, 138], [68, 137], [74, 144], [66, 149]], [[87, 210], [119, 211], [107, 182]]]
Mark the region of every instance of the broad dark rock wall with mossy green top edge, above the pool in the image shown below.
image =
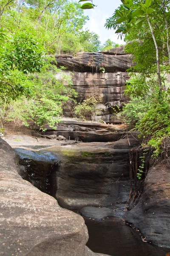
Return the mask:
[[[131, 143], [136, 143], [136, 140]], [[111, 143], [82, 143], [75, 146], [51, 147], [59, 160], [56, 198], [67, 209], [86, 206], [112, 207], [122, 211], [128, 199], [129, 148], [128, 141], [119, 145]], [[121, 147], [122, 143], [122, 147]], [[93, 143], [92, 143], [93, 144]], [[116, 146], [117, 145], [117, 146]], [[123, 149], [123, 145], [126, 148]], [[125, 192], [124, 192], [125, 191]], [[121, 205], [121, 209], [117, 205]], [[118, 208], [118, 209], [117, 209]], [[121, 212], [122, 215], [122, 212]]]

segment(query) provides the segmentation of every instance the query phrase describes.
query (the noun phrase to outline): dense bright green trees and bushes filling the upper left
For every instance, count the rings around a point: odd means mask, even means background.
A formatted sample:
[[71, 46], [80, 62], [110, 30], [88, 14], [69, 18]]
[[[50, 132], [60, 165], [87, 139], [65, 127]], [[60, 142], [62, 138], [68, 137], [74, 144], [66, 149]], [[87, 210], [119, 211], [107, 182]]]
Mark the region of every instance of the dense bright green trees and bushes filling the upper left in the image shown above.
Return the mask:
[[[53, 55], [96, 52], [103, 46], [99, 36], [83, 30], [88, 16], [74, 0], [0, 1], [0, 129], [33, 120], [52, 128], [62, 116], [66, 102], [76, 105], [71, 77], [62, 72]], [[67, 84], [67, 85], [65, 85]]]

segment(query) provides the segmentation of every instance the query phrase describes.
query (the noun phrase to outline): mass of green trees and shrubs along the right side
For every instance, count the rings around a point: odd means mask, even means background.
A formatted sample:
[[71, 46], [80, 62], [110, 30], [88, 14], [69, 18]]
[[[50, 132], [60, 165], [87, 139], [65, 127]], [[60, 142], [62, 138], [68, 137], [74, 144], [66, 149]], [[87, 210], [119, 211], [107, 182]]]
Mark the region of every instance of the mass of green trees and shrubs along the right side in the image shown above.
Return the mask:
[[[79, 2], [84, 2], [82, 9], [97, 8], [97, 0]], [[105, 27], [124, 39], [125, 51], [133, 56], [125, 90], [131, 101], [122, 116], [136, 124], [144, 145], [154, 148], [157, 157], [170, 136], [170, 0], [121, 2]]]

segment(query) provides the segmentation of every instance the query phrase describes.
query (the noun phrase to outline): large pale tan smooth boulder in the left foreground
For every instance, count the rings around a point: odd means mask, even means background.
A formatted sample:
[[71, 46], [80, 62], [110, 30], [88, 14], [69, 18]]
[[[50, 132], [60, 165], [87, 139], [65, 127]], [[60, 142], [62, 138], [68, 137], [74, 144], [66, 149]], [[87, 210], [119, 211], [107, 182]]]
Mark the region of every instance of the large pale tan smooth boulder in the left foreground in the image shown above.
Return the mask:
[[0, 255], [100, 255], [85, 247], [88, 232], [83, 218], [23, 180], [14, 151], [2, 139], [0, 195]]

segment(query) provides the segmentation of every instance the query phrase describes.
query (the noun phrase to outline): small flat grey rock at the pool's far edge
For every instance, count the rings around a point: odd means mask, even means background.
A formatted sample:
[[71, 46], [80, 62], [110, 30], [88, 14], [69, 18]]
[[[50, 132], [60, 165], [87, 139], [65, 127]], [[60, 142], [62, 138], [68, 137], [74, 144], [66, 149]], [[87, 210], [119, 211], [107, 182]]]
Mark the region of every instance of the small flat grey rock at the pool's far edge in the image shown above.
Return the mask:
[[103, 218], [113, 216], [113, 210], [106, 207], [84, 207], [79, 212], [81, 215], [95, 220], [102, 220]]

